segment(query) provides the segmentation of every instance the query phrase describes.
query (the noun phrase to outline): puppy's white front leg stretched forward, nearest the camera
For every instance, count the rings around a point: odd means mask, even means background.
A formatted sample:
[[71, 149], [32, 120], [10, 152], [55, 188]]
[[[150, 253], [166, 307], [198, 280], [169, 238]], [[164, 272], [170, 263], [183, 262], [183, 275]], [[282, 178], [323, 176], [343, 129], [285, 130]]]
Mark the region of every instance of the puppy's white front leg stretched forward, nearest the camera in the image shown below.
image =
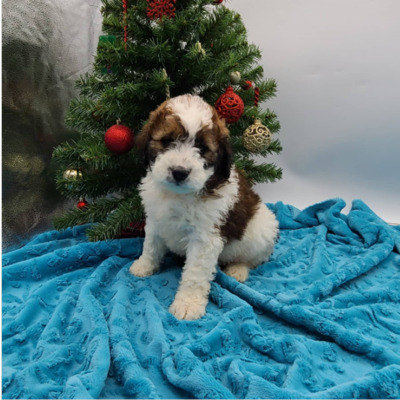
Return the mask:
[[211, 282], [222, 249], [223, 242], [219, 235], [189, 240], [182, 278], [169, 309], [176, 318], [193, 320], [205, 314]]

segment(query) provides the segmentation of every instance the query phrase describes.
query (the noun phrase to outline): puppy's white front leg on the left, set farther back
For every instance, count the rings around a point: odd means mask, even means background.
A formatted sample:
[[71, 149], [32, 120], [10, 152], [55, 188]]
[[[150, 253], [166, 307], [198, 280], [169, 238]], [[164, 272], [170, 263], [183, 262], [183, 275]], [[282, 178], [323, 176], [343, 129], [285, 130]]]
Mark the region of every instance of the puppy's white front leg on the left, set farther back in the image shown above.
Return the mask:
[[154, 224], [147, 222], [142, 255], [133, 262], [129, 272], [139, 277], [153, 275], [160, 268], [160, 262], [166, 251], [167, 247], [157, 235]]

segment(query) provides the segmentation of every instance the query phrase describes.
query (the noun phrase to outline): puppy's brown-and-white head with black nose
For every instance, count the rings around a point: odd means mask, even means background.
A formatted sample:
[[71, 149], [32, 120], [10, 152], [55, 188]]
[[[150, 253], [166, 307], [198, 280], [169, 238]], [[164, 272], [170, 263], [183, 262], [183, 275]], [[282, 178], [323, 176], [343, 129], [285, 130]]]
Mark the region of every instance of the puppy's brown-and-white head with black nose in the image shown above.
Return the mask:
[[198, 96], [165, 101], [150, 114], [138, 137], [154, 180], [175, 193], [212, 190], [229, 178], [229, 131]]

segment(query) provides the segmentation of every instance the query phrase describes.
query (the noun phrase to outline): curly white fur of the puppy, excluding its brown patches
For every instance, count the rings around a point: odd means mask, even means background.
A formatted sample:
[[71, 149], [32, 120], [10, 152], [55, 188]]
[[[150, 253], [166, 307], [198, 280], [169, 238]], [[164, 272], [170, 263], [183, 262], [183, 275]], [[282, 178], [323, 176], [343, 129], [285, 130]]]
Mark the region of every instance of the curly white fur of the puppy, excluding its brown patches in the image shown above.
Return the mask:
[[[260, 202], [248, 221], [240, 240], [227, 242], [220, 227], [239, 196], [239, 179], [235, 169], [230, 178], [204, 196], [202, 189], [214, 173], [206, 168], [194, 147], [196, 132], [211, 124], [210, 107], [203, 100], [190, 96], [172, 99], [169, 105], [179, 114], [189, 136], [160, 153], [140, 186], [146, 211], [146, 237], [143, 254], [130, 267], [136, 276], [149, 276], [159, 269], [170, 250], [186, 256], [182, 278], [170, 311], [179, 319], [197, 319], [205, 314], [211, 281], [218, 263], [227, 265], [226, 273], [245, 281], [248, 269], [267, 261], [273, 251], [278, 232], [275, 216]], [[200, 100], [198, 100], [200, 99]], [[174, 183], [171, 171], [190, 170], [188, 178]]]

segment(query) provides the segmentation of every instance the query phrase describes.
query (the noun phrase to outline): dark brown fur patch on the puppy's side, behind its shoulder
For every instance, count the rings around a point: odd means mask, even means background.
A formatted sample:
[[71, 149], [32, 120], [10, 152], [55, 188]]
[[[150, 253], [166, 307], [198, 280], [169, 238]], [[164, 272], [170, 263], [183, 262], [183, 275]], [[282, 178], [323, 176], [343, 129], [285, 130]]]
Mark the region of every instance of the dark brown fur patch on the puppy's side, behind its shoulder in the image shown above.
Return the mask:
[[228, 242], [242, 238], [249, 221], [254, 216], [261, 202], [260, 197], [251, 189], [249, 183], [239, 171], [238, 177], [238, 199], [229, 211], [225, 222], [220, 227], [221, 236]]

